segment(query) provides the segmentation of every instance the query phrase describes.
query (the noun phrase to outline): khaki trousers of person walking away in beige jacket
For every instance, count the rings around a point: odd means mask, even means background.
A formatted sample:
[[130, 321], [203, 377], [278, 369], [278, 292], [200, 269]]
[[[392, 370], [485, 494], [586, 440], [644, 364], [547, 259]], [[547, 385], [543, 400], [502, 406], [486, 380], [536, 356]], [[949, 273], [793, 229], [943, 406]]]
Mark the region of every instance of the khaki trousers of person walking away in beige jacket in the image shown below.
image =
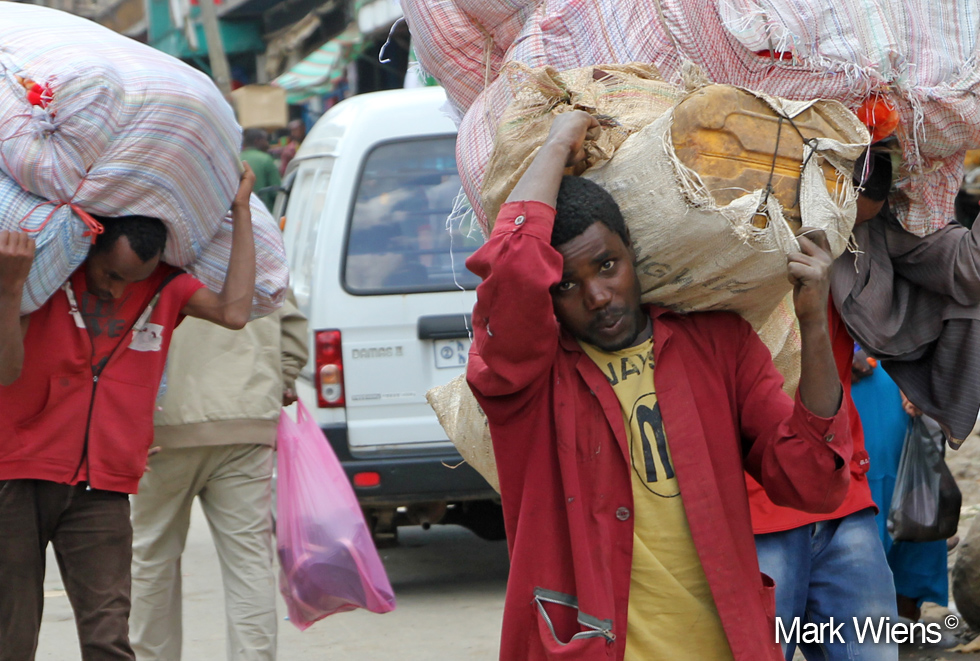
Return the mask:
[[150, 459], [132, 501], [130, 637], [139, 661], [180, 659], [180, 556], [195, 496], [221, 563], [228, 659], [275, 659], [272, 466], [265, 445], [171, 448]]

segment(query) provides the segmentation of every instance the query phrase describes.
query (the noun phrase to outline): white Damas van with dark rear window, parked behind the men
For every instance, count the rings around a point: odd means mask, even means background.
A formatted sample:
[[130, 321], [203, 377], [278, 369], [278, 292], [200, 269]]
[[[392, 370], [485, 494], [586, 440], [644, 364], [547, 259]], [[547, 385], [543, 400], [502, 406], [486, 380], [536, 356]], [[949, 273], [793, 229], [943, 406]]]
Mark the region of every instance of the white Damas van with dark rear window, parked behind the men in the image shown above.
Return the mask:
[[503, 536], [499, 500], [446, 438], [426, 391], [460, 374], [483, 243], [447, 228], [460, 191], [441, 88], [355, 96], [316, 123], [275, 212], [310, 362], [298, 382], [376, 539], [452, 522]]

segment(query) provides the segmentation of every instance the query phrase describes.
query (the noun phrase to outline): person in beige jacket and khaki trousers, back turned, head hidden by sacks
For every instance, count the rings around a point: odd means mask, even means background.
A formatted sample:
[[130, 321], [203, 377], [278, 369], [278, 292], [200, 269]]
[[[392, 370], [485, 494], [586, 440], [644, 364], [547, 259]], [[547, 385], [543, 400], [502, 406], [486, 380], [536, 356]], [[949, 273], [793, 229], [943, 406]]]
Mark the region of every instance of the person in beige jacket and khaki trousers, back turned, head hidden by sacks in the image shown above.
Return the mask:
[[161, 451], [132, 501], [139, 661], [181, 658], [180, 563], [195, 497], [221, 563], [227, 657], [275, 659], [276, 425], [306, 359], [306, 319], [291, 300], [238, 332], [192, 320], [174, 334], [155, 418]]

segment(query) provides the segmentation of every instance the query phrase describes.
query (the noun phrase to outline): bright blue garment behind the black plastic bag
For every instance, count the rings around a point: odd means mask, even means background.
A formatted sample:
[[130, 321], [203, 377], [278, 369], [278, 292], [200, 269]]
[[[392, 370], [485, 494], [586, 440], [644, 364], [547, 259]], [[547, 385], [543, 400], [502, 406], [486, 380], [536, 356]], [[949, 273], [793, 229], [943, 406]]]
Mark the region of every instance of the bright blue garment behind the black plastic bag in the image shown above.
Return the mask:
[[864, 447], [871, 457], [868, 486], [878, 506], [875, 521], [878, 535], [895, 575], [898, 594], [946, 606], [949, 603], [949, 575], [946, 564], [946, 541], [897, 542], [888, 535], [888, 507], [895, 490], [895, 476], [902, 457], [909, 416], [902, 410], [898, 386], [881, 367], [871, 376], [851, 386], [854, 406], [864, 428]]

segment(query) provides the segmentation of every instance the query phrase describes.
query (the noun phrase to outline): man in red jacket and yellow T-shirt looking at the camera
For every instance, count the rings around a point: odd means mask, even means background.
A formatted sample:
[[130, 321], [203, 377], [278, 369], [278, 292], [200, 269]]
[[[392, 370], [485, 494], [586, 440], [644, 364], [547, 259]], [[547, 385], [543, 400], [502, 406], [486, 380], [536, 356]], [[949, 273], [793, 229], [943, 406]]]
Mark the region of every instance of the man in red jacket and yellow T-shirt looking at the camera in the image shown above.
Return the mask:
[[825, 238], [801, 238], [789, 259], [794, 403], [740, 317], [641, 307], [616, 203], [562, 177], [588, 130], [586, 113], [556, 119], [467, 262], [483, 278], [467, 378], [511, 556], [500, 657], [779, 659], [742, 476], [810, 511], [847, 491]]

